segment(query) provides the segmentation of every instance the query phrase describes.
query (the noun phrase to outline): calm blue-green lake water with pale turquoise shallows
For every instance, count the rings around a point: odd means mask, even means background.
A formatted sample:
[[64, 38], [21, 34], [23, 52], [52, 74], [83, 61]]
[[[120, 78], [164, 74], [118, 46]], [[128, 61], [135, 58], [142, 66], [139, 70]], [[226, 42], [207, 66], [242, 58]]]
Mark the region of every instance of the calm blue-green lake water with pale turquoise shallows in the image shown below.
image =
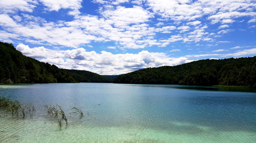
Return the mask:
[[[241, 90], [241, 89], [240, 89]], [[236, 89], [113, 83], [0, 85], [33, 103], [31, 119], [0, 108], [0, 142], [256, 142], [256, 93]], [[44, 105], [59, 104], [59, 128]], [[83, 118], [70, 116], [78, 107]]]

